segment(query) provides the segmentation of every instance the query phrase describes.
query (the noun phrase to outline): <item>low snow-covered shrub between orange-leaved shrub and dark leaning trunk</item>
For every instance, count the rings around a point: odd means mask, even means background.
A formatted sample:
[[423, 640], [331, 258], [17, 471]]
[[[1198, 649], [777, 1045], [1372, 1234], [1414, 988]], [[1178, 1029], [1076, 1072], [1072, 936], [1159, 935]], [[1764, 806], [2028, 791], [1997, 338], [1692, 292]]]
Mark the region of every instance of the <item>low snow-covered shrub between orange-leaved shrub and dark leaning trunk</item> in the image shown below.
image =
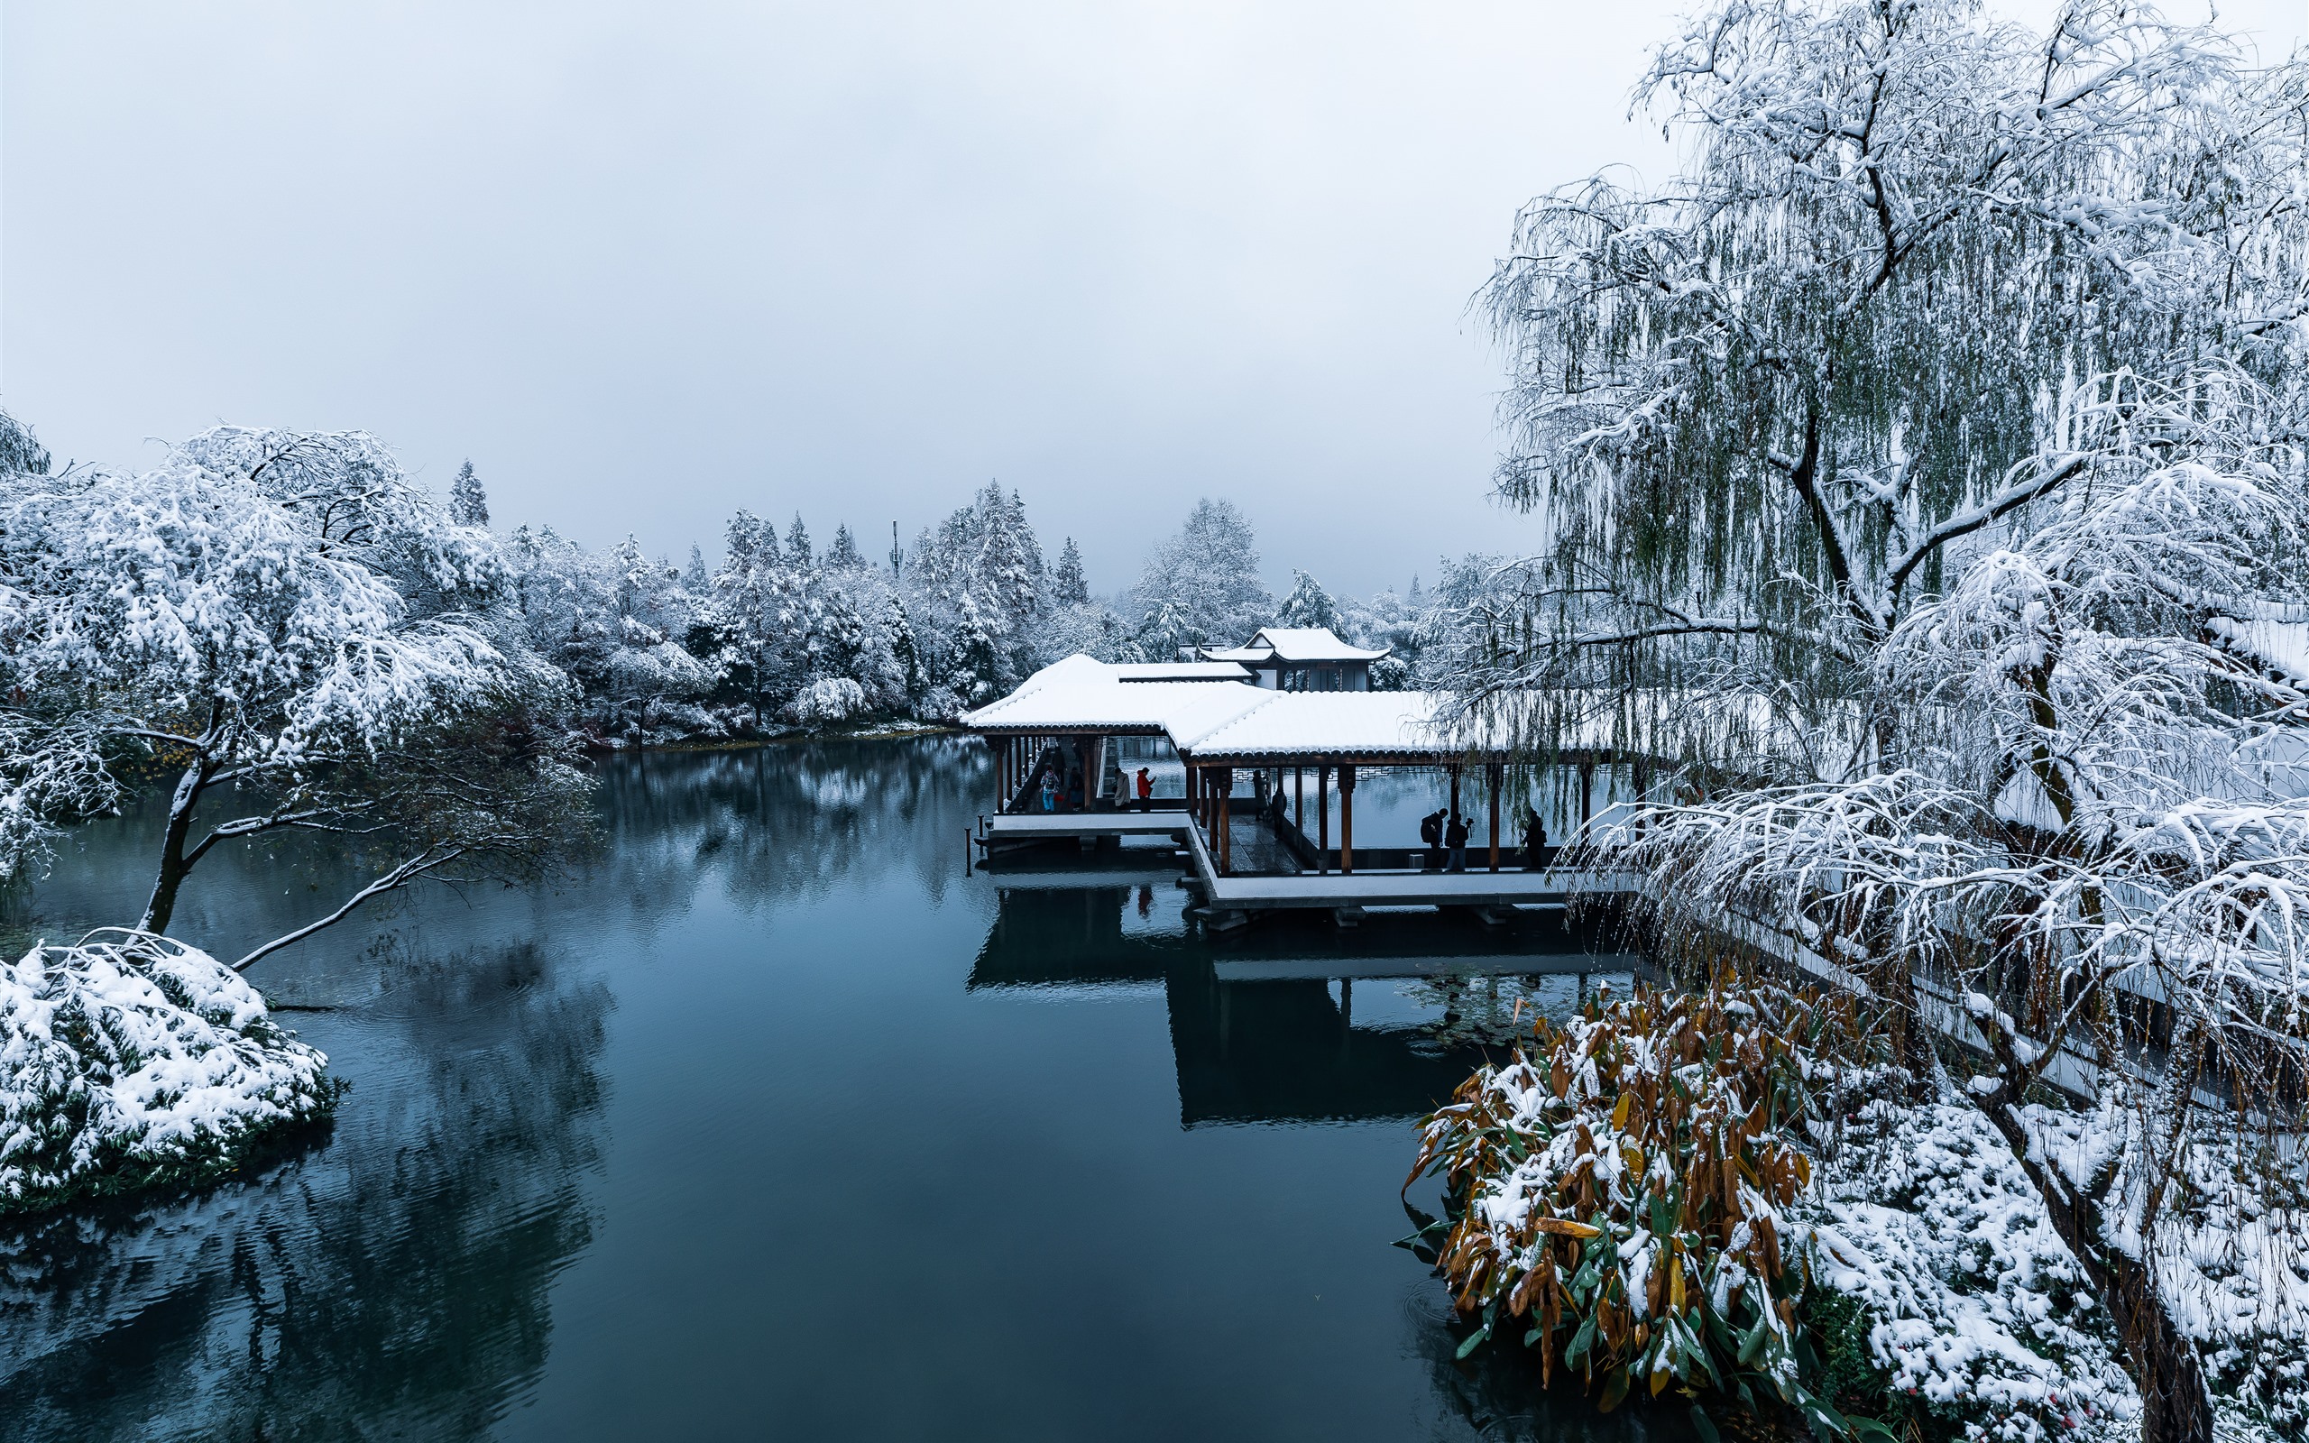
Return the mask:
[[2138, 1431], [2108, 1309], [1979, 1108], [1868, 1104], [1806, 1212], [1893, 1392], [1979, 1441]]

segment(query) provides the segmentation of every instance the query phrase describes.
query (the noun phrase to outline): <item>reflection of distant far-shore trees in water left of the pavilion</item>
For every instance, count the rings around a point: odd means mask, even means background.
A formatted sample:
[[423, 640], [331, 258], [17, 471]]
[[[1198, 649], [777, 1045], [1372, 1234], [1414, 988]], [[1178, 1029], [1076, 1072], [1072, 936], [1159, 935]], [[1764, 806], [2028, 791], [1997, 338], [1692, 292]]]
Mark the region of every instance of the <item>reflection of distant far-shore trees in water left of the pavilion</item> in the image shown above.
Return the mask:
[[937, 905], [991, 803], [986, 757], [963, 737], [612, 757], [598, 769], [612, 880], [679, 898], [718, 873], [739, 900], [792, 900], [903, 857]]

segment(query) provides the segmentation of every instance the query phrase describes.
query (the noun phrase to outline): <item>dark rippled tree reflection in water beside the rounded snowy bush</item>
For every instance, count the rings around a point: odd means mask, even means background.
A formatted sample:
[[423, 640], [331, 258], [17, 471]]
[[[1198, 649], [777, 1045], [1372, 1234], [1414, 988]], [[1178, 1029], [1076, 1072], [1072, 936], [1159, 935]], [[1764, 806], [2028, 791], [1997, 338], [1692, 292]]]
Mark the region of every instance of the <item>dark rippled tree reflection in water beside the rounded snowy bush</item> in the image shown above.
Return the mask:
[[16, 1436], [478, 1438], [538, 1376], [593, 1231], [610, 993], [513, 947], [402, 963], [376, 1007], [406, 1037], [326, 1150], [0, 1231]]

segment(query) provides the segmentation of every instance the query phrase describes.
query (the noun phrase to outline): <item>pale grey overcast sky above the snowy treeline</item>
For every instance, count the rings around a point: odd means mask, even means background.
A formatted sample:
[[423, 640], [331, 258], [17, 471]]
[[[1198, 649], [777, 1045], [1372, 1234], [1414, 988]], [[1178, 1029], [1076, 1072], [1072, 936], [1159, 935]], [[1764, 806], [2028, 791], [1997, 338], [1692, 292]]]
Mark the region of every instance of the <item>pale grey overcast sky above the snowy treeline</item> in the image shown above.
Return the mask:
[[1665, 169], [1681, 9], [9, 0], [0, 404], [118, 466], [363, 427], [677, 559], [1000, 478], [1099, 591], [1231, 496], [1272, 582], [1404, 586], [1529, 540], [1466, 298], [1531, 194]]

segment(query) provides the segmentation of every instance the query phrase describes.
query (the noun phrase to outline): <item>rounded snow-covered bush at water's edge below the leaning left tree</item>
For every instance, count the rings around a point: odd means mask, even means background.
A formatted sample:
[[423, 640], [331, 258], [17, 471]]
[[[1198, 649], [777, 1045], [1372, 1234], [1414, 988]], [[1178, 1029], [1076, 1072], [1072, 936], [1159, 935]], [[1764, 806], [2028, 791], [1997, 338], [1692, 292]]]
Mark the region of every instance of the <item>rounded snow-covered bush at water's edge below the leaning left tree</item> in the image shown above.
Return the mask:
[[148, 933], [0, 963], [0, 1212], [224, 1173], [335, 1108], [238, 972]]

